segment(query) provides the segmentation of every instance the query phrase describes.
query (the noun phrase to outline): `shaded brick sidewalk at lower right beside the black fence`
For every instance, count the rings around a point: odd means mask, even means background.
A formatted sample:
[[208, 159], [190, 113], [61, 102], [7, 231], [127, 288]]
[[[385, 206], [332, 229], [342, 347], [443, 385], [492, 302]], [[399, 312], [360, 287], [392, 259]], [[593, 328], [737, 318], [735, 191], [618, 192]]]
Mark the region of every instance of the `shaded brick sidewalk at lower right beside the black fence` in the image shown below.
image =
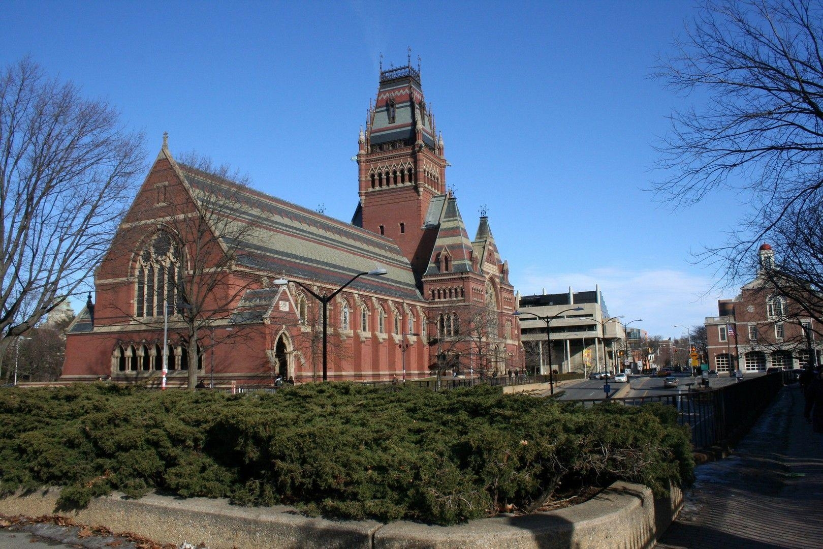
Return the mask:
[[783, 388], [730, 457], [695, 471], [658, 549], [823, 547], [823, 435]]

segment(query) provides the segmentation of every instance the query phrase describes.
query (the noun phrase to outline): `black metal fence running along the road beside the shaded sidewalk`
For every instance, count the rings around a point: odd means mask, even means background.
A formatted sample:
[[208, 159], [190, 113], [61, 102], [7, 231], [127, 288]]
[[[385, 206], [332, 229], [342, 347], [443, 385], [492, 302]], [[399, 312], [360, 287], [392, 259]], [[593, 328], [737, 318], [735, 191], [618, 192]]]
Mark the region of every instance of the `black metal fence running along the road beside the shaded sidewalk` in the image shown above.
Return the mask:
[[600, 402], [616, 402], [625, 406], [640, 406], [660, 402], [677, 409], [677, 421], [691, 431], [695, 448], [720, 445], [728, 447], [740, 440], [754, 425], [760, 413], [769, 405], [783, 384], [796, 380], [790, 372], [774, 373], [746, 379], [725, 387], [649, 397], [585, 399], [583, 406]]

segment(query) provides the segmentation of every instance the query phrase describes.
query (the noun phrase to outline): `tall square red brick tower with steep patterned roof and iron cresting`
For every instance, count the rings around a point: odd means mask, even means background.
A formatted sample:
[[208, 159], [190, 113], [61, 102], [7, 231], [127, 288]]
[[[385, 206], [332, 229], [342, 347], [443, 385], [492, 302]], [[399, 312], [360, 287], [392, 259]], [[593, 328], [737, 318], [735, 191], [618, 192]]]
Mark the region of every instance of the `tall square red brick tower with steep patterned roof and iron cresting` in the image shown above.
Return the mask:
[[447, 163], [419, 66], [381, 66], [377, 100], [358, 145], [360, 204], [353, 222], [394, 240], [420, 281], [436, 237], [426, 214], [432, 198], [446, 192]]

